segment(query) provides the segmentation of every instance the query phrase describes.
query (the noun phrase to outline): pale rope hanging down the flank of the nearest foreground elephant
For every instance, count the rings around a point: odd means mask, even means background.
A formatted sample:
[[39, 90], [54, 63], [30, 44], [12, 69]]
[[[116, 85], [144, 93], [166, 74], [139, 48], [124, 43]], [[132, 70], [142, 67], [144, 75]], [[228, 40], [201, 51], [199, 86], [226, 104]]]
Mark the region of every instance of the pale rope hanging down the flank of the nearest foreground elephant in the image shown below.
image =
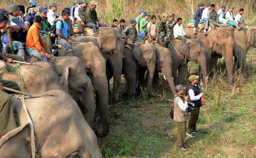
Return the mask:
[[28, 117], [28, 123], [30, 124], [31, 152], [32, 152], [32, 158], [35, 158], [35, 130], [34, 130], [34, 125], [33, 125], [32, 119], [30, 117], [30, 114], [28, 112], [27, 105], [25, 103], [25, 96], [24, 95], [22, 95], [21, 101], [22, 101], [22, 107], [25, 110], [25, 113], [27, 114], [27, 117]]

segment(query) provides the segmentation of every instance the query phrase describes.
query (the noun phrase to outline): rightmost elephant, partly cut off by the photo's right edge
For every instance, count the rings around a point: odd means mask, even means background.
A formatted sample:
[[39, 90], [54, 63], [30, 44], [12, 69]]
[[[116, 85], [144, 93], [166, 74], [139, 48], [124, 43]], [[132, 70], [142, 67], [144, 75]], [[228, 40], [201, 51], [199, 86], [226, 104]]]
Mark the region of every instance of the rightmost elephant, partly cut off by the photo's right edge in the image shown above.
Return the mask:
[[245, 59], [250, 47], [256, 48], [256, 27], [248, 27], [247, 33], [234, 30], [234, 65], [241, 69], [244, 78], [247, 78]]

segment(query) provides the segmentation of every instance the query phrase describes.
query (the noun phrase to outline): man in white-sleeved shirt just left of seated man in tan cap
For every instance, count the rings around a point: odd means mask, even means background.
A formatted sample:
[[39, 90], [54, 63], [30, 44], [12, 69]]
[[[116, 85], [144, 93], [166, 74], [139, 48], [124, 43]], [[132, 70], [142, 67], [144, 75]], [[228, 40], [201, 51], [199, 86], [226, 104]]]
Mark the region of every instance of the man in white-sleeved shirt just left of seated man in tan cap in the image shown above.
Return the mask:
[[80, 31], [80, 36], [84, 36], [83, 28], [85, 28], [86, 20], [85, 20], [85, 9], [87, 7], [88, 1], [87, 0], [80, 0], [80, 4], [78, 7], [75, 8], [75, 23], [77, 23], [77, 26]]

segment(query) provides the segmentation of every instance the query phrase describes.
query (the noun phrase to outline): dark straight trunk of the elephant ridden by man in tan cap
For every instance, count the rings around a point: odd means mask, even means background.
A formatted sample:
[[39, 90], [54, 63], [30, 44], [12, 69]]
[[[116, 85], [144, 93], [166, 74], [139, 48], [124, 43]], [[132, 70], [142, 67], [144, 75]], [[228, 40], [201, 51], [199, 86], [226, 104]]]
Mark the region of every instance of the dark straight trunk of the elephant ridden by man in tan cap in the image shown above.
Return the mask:
[[[117, 52], [116, 52], [117, 54]], [[111, 67], [113, 69], [113, 101], [117, 102], [119, 100], [119, 90], [121, 84], [121, 75], [122, 75], [122, 55], [111, 57], [109, 59]]]

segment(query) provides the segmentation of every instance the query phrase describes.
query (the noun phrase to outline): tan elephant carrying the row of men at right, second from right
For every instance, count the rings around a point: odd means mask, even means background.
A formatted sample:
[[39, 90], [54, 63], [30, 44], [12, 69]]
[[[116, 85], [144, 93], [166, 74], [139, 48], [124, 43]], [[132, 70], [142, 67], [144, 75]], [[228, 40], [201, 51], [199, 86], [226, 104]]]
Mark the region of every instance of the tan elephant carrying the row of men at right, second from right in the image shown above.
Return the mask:
[[233, 81], [233, 44], [234, 28], [220, 27], [211, 30], [207, 36], [199, 32], [197, 35], [193, 30], [185, 29], [185, 32], [192, 38], [199, 38], [203, 43], [203, 50], [207, 53], [207, 71], [210, 75], [218, 61], [218, 57], [223, 56], [228, 70], [228, 84]]

